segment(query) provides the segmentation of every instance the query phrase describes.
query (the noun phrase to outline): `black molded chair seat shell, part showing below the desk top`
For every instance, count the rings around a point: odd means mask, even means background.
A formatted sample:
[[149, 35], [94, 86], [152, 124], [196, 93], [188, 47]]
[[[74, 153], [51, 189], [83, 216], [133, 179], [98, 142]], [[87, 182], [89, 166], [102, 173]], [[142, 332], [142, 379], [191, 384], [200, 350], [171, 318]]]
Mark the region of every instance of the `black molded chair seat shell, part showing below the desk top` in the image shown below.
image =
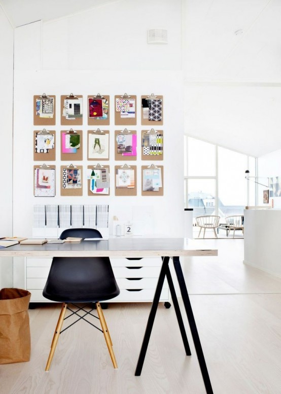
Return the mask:
[[65, 303], [106, 301], [119, 293], [110, 259], [104, 257], [54, 257], [43, 290], [48, 300]]

